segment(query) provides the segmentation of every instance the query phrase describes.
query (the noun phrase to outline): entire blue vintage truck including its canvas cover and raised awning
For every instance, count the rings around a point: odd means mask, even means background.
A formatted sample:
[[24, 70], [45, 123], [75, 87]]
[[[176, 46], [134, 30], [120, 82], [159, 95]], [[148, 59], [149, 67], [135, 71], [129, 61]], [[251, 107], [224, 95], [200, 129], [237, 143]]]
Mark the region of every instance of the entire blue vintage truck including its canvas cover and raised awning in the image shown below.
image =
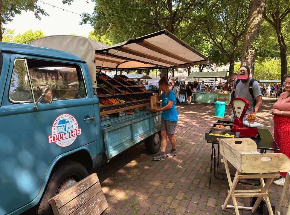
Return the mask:
[[104, 117], [100, 71], [208, 63], [167, 30], [112, 46], [70, 35], [30, 44], [0, 42], [0, 215], [50, 215], [51, 197], [117, 154], [143, 141], [159, 151], [161, 112]]

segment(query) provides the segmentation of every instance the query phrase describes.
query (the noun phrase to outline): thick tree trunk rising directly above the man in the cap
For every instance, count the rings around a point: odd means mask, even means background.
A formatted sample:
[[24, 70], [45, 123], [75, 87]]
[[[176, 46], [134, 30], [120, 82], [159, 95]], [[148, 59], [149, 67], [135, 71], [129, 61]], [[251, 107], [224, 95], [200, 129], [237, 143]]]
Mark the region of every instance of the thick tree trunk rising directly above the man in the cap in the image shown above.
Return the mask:
[[253, 0], [247, 20], [247, 27], [244, 36], [241, 56], [241, 66], [248, 66], [251, 71], [251, 76], [254, 74], [256, 48], [262, 15], [265, 8], [265, 0]]

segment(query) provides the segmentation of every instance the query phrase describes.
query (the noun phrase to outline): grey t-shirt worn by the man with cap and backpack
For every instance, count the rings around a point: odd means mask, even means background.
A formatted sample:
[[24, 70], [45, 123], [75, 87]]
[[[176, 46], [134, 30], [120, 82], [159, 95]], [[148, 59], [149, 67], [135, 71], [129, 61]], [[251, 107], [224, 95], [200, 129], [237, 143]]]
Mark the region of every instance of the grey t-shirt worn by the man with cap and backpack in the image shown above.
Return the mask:
[[[244, 99], [247, 99], [250, 102], [250, 105], [248, 107], [248, 110], [246, 113], [251, 113], [254, 110], [254, 101], [253, 101], [253, 97], [250, 94], [249, 91], [249, 82], [252, 78], [250, 78], [247, 82], [243, 83], [243, 82], [239, 82], [236, 85], [236, 81], [235, 80], [234, 84], [233, 84], [233, 89], [236, 89], [235, 91], [235, 98], [236, 97], [241, 97]], [[257, 96], [262, 95], [261, 90], [260, 90], [260, 85], [257, 81], [255, 81], [253, 83], [253, 93], [254, 93], [254, 97], [256, 98]]]

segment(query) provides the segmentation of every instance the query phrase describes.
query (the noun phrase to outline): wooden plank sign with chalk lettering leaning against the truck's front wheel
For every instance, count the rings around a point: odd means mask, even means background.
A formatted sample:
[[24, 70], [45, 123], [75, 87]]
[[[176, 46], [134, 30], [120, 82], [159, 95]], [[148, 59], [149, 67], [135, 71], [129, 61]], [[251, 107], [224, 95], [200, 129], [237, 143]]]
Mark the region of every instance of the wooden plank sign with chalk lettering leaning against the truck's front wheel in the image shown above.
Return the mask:
[[49, 199], [56, 215], [98, 215], [108, 208], [96, 173]]

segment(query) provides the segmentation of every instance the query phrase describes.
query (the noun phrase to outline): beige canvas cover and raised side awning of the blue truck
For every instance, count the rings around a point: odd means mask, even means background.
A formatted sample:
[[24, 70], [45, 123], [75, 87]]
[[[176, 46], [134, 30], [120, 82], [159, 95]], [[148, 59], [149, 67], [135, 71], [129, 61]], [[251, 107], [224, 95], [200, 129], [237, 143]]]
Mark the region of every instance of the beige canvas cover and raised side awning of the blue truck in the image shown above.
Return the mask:
[[96, 70], [145, 70], [183, 68], [206, 64], [208, 58], [167, 30], [129, 39], [108, 46], [72, 35], [46, 36], [30, 45], [66, 51], [86, 61], [92, 85], [96, 85]]

